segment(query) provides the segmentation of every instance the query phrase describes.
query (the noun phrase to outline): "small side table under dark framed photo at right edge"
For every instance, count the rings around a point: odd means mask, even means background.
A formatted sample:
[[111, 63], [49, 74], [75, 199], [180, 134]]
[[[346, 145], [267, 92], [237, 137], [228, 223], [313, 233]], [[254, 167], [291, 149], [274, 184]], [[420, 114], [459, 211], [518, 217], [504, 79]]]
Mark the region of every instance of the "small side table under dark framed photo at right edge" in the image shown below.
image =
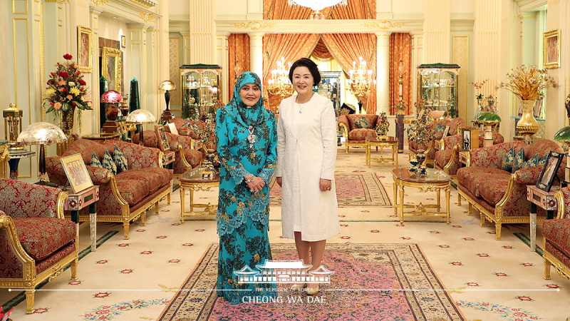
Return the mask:
[[530, 202], [530, 250], [537, 248], [537, 205], [546, 210], [546, 220], [554, 218], [554, 210], [557, 208], [556, 193], [559, 188], [552, 188], [546, 192], [537, 186], [527, 185], [527, 200]]

